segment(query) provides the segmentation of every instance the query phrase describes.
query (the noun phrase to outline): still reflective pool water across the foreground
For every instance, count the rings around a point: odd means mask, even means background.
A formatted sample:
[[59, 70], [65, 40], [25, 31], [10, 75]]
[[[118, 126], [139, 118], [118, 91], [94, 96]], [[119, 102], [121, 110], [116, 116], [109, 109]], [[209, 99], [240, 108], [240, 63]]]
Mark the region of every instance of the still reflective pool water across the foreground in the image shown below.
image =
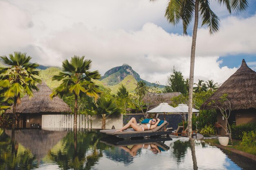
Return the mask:
[[99, 130], [0, 129], [0, 170], [240, 170], [255, 161], [185, 137], [117, 140]]

